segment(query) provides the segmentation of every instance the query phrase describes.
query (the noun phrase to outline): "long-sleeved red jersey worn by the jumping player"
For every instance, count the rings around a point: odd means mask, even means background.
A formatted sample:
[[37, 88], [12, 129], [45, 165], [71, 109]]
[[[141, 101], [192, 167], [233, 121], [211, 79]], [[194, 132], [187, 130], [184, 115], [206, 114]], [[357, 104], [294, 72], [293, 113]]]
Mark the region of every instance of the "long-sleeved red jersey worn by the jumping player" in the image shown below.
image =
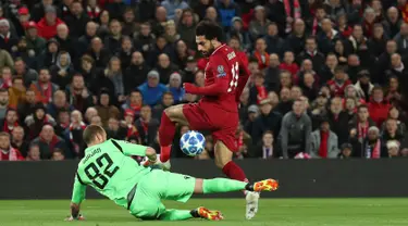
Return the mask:
[[222, 45], [212, 52], [205, 68], [205, 87], [185, 84], [186, 92], [202, 95], [201, 104], [237, 112], [249, 72], [231, 47]]

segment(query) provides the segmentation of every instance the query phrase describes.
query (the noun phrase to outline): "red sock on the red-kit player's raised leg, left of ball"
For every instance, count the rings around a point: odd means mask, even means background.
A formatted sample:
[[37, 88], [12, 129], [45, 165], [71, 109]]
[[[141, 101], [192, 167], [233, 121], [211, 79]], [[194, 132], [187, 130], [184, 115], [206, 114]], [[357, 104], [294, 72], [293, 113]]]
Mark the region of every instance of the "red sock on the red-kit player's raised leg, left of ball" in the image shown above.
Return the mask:
[[170, 159], [171, 145], [175, 134], [175, 124], [163, 112], [159, 127], [160, 161], [166, 162]]

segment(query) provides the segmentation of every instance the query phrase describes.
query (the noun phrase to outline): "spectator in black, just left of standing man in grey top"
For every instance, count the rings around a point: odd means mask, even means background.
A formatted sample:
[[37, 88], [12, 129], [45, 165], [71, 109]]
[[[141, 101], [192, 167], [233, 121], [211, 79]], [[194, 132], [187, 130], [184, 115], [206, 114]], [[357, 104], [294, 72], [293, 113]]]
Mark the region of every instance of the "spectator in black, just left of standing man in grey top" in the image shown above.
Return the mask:
[[271, 100], [263, 99], [260, 101], [261, 114], [255, 118], [254, 127], [250, 131], [254, 145], [262, 138], [262, 134], [272, 130], [274, 135], [279, 135], [281, 130], [282, 115], [273, 111]]

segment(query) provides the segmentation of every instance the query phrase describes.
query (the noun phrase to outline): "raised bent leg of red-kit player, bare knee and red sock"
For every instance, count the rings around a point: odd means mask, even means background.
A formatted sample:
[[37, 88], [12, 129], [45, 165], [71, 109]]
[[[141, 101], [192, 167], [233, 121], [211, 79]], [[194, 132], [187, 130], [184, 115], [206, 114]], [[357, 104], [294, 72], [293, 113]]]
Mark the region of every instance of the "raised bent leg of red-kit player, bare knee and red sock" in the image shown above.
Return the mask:
[[159, 127], [159, 140], [160, 140], [160, 161], [166, 162], [170, 159], [171, 145], [175, 135], [176, 123], [188, 125], [184, 113], [183, 105], [173, 105], [164, 110], [161, 115], [161, 123]]

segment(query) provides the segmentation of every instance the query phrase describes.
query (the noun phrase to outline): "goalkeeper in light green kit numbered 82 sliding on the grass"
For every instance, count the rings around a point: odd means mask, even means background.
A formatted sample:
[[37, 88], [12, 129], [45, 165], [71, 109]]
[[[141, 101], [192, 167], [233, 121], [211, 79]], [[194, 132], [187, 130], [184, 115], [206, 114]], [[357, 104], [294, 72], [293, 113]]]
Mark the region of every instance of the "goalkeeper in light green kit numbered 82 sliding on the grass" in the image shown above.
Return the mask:
[[[107, 140], [100, 126], [90, 125], [84, 130], [88, 148], [78, 164], [74, 181], [71, 216], [67, 221], [84, 219], [79, 214], [85, 199], [86, 186], [108, 197], [118, 205], [126, 208], [132, 215], [141, 219], [181, 221], [201, 217], [222, 219], [220, 211], [206, 208], [195, 210], [169, 210], [161, 200], [186, 202], [193, 193], [214, 193], [238, 190], [272, 191], [277, 189], [274, 179], [244, 183], [232, 179], [199, 179], [139, 165], [132, 155], [147, 156], [150, 163], [162, 166], [151, 148], [126, 141]], [[159, 162], [159, 163], [158, 163]]]

